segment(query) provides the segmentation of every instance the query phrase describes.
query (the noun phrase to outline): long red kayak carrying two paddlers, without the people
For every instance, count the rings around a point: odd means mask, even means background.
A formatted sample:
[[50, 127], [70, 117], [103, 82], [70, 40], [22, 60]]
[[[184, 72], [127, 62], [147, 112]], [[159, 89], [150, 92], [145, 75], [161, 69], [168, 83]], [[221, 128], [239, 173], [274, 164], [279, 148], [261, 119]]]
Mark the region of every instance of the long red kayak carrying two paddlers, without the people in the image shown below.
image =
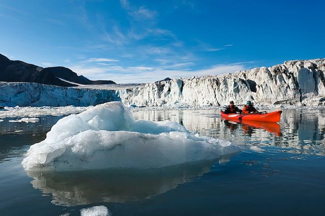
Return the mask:
[[233, 120], [249, 120], [249, 121], [266, 121], [266, 122], [278, 122], [280, 121], [280, 116], [282, 111], [275, 111], [269, 113], [249, 113], [249, 114], [225, 114], [220, 111], [221, 117]]

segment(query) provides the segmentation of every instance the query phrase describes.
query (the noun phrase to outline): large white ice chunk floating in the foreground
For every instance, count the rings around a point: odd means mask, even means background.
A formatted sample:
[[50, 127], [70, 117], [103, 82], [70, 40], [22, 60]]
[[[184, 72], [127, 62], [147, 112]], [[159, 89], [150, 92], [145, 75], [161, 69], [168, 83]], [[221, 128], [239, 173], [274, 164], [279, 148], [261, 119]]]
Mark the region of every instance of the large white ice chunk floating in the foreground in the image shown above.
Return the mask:
[[26, 170], [148, 169], [216, 159], [240, 151], [228, 141], [200, 137], [172, 121], [136, 121], [121, 102], [60, 119], [28, 150]]

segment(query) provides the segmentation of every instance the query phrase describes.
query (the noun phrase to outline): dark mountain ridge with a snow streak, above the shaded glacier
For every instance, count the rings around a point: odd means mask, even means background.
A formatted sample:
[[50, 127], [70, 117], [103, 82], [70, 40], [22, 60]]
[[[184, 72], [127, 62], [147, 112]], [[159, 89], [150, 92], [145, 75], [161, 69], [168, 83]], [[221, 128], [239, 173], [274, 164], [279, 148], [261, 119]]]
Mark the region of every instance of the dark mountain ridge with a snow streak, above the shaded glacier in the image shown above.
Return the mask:
[[72, 87], [76, 84], [114, 84], [111, 80], [89, 80], [84, 76], [78, 76], [66, 67], [42, 68], [22, 61], [12, 61], [0, 54], [0, 81], [7, 82], [37, 82], [41, 84], [59, 85], [61, 87]]

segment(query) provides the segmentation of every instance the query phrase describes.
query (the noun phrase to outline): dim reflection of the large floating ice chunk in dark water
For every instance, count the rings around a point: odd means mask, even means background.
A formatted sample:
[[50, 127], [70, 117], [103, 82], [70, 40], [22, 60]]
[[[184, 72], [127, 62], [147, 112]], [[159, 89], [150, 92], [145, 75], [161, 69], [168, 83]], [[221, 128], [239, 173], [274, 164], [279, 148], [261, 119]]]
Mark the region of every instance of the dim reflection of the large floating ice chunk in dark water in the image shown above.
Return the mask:
[[[220, 162], [231, 155], [223, 156]], [[151, 170], [86, 170], [29, 172], [35, 189], [52, 194], [52, 203], [71, 206], [93, 202], [126, 202], [165, 193], [210, 170], [213, 161]]]

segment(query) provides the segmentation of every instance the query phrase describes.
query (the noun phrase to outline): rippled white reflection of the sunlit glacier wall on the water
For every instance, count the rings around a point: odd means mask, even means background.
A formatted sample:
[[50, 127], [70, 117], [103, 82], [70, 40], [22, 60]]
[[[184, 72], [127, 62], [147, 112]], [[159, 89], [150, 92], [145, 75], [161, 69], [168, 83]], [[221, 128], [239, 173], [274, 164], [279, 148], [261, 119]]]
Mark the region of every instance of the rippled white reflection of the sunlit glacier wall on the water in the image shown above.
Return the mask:
[[[280, 129], [273, 125], [230, 125], [220, 110], [134, 110], [136, 119], [172, 120], [192, 133], [258, 146], [278, 146], [287, 151], [325, 155], [325, 110], [283, 110]], [[245, 122], [246, 123], [246, 122]], [[282, 135], [282, 136], [280, 136]]]

